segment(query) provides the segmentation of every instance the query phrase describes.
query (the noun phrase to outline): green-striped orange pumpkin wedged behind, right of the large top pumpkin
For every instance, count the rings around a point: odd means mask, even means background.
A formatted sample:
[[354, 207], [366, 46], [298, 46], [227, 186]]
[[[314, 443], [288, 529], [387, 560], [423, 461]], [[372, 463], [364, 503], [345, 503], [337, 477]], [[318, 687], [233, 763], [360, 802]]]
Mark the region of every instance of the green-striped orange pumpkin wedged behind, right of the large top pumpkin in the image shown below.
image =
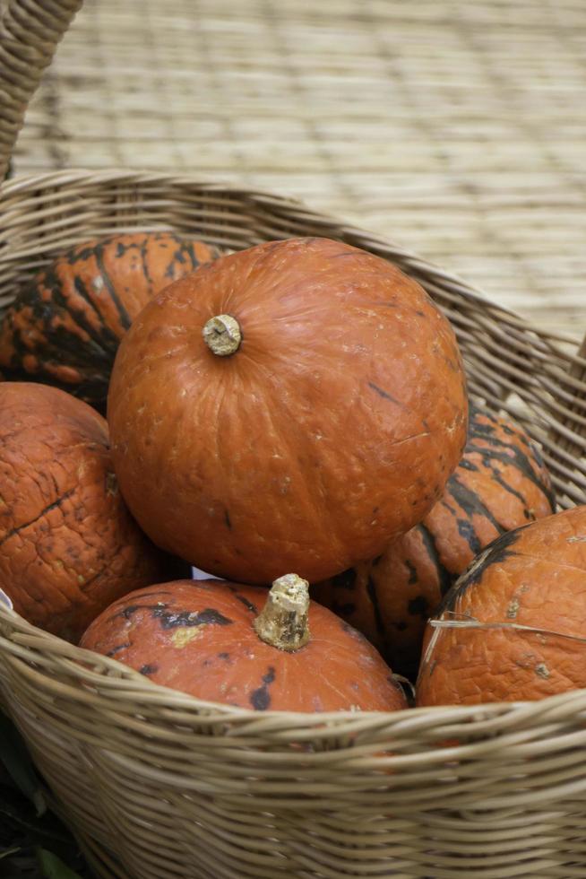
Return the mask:
[[373, 561], [312, 587], [312, 597], [415, 679], [427, 618], [480, 550], [549, 516], [555, 500], [539, 449], [508, 419], [470, 407], [469, 439], [423, 522]]

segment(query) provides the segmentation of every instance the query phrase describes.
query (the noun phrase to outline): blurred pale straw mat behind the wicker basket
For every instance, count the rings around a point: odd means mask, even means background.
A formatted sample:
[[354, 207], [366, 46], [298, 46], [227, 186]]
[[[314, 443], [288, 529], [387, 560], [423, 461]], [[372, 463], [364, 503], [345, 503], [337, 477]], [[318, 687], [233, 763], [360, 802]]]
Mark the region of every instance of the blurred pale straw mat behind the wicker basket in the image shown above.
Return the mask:
[[584, 0], [86, 0], [14, 170], [299, 197], [575, 338], [585, 94]]

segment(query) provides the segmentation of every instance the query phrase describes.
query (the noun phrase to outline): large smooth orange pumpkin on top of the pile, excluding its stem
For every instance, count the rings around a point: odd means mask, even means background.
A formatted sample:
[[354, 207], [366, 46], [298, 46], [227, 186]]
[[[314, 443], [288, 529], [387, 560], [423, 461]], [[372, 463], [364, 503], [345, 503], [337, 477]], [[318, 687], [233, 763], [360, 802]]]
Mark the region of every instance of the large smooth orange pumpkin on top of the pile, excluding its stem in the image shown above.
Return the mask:
[[[242, 331], [228, 356], [203, 339], [220, 315]], [[172, 284], [125, 335], [108, 396], [143, 530], [264, 584], [331, 576], [423, 518], [467, 414], [452, 327], [427, 293], [329, 239], [259, 245]]]

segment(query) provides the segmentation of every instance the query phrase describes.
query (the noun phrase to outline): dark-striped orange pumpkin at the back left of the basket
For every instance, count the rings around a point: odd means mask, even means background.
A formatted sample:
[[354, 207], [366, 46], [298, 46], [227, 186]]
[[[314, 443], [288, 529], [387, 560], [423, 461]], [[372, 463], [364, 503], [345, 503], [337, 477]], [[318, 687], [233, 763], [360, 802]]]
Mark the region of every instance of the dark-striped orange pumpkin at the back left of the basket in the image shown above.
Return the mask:
[[43, 269], [0, 328], [9, 379], [62, 387], [105, 411], [116, 349], [132, 321], [169, 283], [218, 251], [172, 232], [93, 239]]

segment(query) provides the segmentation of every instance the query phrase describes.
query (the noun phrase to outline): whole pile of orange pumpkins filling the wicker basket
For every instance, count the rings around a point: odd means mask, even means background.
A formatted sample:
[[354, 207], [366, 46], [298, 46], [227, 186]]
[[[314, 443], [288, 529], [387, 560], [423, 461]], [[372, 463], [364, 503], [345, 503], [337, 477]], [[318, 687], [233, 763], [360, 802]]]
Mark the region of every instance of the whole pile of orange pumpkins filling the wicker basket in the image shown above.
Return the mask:
[[382, 258], [88, 241], [7, 310], [0, 370], [0, 587], [35, 625], [256, 710], [586, 684], [586, 509]]

